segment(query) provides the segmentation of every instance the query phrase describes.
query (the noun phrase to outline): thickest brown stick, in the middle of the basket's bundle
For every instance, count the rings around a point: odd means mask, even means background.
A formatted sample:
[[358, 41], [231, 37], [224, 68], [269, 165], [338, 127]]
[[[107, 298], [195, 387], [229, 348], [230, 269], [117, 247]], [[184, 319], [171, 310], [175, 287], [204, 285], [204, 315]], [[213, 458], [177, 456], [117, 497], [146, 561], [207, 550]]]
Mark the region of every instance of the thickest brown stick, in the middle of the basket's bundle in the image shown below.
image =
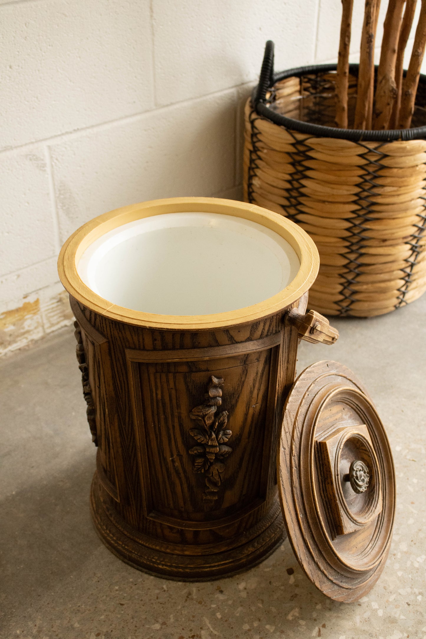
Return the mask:
[[389, 128], [393, 102], [397, 97], [395, 66], [404, 3], [405, 0], [389, 0], [384, 19], [380, 62], [377, 70], [376, 99], [374, 100], [373, 127], [375, 129]]

